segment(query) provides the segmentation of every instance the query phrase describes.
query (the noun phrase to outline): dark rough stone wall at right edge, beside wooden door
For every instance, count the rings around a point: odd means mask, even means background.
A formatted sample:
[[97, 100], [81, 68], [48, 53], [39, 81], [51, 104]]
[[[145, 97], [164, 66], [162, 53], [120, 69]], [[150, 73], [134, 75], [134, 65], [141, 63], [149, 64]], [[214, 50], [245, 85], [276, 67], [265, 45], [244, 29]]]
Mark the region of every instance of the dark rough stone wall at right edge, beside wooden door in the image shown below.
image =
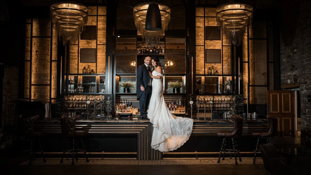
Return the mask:
[[[289, 40], [285, 32], [281, 33], [281, 83], [299, 82], [301, 130], [311, 130], [311, 102], [307, 102], [307, 95], [311, 95], [310, 6], [311, 1], [300, 1], [299, 19], [295, 19], [298, 26], [290, 31], [295, 34], [293, 40]], [[280, 28], [286, 30], [290, 27], [287, 25], [292, 24], [283, 23]]]

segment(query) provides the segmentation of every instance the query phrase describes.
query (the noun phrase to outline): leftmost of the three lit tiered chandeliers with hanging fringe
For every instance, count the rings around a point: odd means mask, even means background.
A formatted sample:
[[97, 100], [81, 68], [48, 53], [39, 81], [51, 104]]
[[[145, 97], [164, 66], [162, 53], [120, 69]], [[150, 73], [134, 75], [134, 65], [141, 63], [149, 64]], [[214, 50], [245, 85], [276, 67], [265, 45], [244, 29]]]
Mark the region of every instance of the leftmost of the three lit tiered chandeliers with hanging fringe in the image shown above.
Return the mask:
[[63, 39], [63, 45], [68, 41], [76, 43], [80, 34], [85, 31], [88, 19], [88, 7], [72, 2], [60, 2], [51, 5], [50, 15], [52, 25]]

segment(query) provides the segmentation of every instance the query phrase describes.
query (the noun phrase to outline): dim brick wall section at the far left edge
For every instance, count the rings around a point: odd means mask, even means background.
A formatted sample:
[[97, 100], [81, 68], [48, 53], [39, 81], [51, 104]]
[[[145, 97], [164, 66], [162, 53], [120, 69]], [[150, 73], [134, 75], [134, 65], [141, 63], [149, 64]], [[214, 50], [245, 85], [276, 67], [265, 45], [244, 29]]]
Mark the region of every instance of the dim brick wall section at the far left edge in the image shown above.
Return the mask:
[[[18, 67], [4, 66], [2, 126], [12, 126], [17, 115], [16, 101], [18, 97]], [[4, 132], [4, 140], [8, 139]]]

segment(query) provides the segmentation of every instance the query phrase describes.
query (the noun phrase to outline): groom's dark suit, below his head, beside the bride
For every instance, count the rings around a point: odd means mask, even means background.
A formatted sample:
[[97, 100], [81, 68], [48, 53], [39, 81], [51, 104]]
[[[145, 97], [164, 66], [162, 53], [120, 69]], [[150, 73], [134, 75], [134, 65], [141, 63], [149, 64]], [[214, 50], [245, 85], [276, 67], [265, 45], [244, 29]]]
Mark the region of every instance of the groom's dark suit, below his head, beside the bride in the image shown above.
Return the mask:
[[[137, 78], [137, 100], [139, 100], [140, 116], [144, 117], [147, 115], [147, 108], [152, 90], [151, 84], [150, 86], [148, 86], [148, 83], [150, 82], [150, 75], [148, 68], [145, 64], [138, 66], [136, 78]], [[145, 91], [142, 91], [140, 89], [141, 85], [145, 87]]]

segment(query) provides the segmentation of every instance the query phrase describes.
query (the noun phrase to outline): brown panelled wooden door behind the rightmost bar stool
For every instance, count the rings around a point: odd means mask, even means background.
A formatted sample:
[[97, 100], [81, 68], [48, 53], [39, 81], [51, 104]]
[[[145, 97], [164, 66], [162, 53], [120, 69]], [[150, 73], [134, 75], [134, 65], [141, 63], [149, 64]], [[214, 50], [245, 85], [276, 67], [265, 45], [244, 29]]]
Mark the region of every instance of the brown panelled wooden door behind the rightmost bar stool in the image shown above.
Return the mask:
[[276, 135], [295, 137], [295, 92], [267, 91], [267, 114], [277, 118]]

